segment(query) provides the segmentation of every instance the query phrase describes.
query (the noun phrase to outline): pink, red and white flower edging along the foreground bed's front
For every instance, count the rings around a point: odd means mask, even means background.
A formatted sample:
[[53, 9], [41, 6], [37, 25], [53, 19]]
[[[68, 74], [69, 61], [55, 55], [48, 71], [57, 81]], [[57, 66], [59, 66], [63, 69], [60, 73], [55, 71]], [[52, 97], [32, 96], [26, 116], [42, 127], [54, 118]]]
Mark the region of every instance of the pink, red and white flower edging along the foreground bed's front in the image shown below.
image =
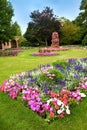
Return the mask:
[[79, 83], [79, 89], [74, 91], [62, 89], [60, 93], [50, 91], [48, 93], [49, 99], [47, 101], [41, 100], [41, 91], [36, 86], [35, 88], [28, 88], [26, 85], [21, 86], [13, 80], [6, 80], [0, 90], [9, 94], [11, 99], [16, 99], [21, 94], [21, 99], [25, 101], [29, 108], [41, 115], [48, 122], [55, 118], [64, 118], [65, 115], [70, 115], [70, 105], [72, 102], [77, 104], [86, 97], [87, 92], [87, 77]]

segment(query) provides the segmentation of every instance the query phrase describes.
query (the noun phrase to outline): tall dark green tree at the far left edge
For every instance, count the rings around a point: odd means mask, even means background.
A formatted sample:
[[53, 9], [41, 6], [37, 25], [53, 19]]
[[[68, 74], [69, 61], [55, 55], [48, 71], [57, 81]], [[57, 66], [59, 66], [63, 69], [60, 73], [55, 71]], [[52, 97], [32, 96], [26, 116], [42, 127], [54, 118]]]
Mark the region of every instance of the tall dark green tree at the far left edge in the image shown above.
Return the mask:
[[0, 0], [0, 43], [8, 41], [11, 35], [13, 8], [9, 1]]

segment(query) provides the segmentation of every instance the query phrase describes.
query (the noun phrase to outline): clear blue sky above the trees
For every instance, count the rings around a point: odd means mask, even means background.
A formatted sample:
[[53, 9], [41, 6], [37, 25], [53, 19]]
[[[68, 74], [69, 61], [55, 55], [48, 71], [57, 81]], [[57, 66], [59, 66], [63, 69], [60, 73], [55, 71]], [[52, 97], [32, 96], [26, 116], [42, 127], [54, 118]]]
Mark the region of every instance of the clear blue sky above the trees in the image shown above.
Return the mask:
[[74, 20], [80, 13], [81, 0], [9, 0], [14, 9], [12, 21], [19, 24], [22, 34], [25, 33], [28, 23], [31, 21], [30, 14], [35, 10], [40, 12], [45, 7], [53, 9], [54, 15]]

